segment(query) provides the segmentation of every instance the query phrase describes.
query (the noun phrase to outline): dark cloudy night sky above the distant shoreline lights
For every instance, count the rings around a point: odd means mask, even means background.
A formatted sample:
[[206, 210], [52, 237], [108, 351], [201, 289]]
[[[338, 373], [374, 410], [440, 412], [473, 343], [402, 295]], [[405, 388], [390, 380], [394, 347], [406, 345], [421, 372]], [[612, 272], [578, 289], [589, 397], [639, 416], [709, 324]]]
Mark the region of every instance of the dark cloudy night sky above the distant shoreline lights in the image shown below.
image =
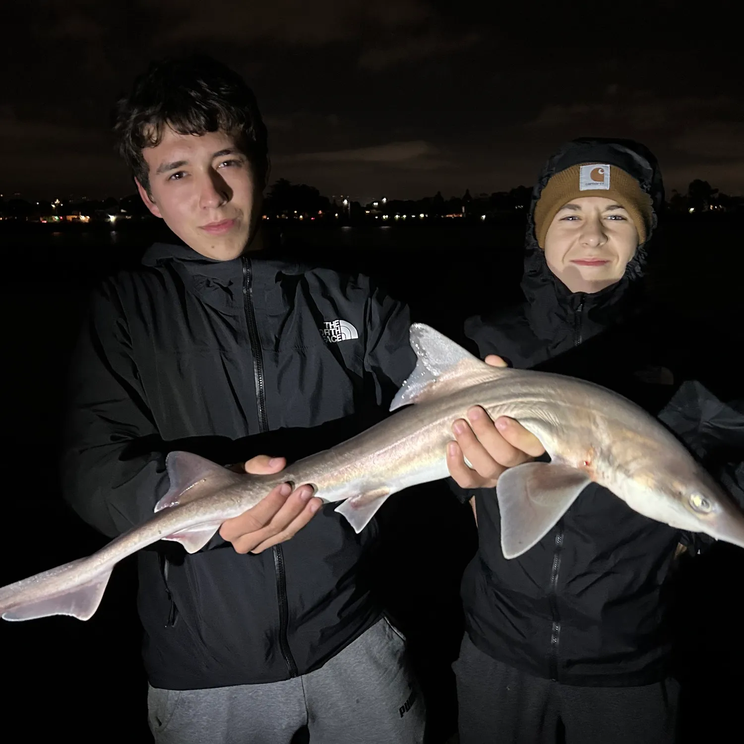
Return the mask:
[[109, 111], [151, 58], [189, 51], [213, 54], [254, 87], [272, 181], [328, 196], [530, 185], [560, 142], [583, 135], [643, 141], [667, 191], [702, 178], [744, 193], [731, 4], [484, 5], [3, 2], [0, 193], [131, 193]]

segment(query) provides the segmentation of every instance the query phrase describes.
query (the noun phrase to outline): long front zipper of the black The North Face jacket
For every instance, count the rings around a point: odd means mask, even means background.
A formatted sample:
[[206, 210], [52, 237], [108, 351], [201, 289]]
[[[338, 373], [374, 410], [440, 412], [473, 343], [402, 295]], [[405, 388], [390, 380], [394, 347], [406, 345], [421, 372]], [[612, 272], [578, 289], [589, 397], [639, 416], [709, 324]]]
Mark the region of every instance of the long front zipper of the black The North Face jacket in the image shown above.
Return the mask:
[[[253, 354], [253, 373], [256, 383], [256, 405], [258, 408], [258, 426], [260, 432], [269, 431], [269, 417], [266, 415], [266, 387], [263, 380], [263, 355], [261, 354], [260, 337], [256, 324], [256, 313], [253, 307], [253, 271], [251, 260], [243, 256], [243, 308], [246, 311], [248, 324], [248, 338], [251, 339], [251, 353]], [[286, 600], [286, 575], [284, 573], [284, 552], [281, 545], [272, 548], [274, 554], [274, 568], [277, 580], [277, 598], [279, 603], [279, 647], [284, 658], [290, 677], [297, 676], [297, 664], [292, 658], [287, 639], [287, 625], [289, 624], [289, 607]]]

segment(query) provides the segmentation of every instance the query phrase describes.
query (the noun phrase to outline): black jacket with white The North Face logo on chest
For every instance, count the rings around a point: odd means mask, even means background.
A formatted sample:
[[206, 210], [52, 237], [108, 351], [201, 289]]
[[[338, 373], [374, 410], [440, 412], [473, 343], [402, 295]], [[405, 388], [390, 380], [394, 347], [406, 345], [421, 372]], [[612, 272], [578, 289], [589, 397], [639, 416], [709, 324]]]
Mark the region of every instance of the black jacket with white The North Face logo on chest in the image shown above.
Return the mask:
[[[408, 309], [363, 276], [156, 244], [94, 295], [71, 382], [65, 498], [108, 536], [153, 514], [165, 455], [220, 464], [317, 452], [382, 415], [414, 367]], [[276, 682], [321, 667], [380, 616], [365, 545], [334, 505], [289, 542], [239, 555], [139, 554], [150, 683]]]

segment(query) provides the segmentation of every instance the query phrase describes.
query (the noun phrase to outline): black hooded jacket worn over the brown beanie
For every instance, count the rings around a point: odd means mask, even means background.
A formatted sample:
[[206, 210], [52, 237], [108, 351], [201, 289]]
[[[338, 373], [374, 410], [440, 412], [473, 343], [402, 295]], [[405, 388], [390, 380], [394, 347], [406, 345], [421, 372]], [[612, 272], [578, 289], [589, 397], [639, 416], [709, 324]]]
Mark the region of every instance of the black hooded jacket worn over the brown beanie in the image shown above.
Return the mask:
[[[652, 235], [664, 200], [652, 155], [624, 141], [566, 144], [545, 164], [533, 190], [525, 303], [470, 318], [466, 336], [481, 358], [496, 353], [516, 368], [580, 377], [635, 400], [661, 417], [734, 496], [741, 496], [744, 411], [720, 403], [699, 382], [684, 382], [690, 372], [682, 369], [672, 325], [644, 297], [649, 241], [639, 247], [623, 278], [596, 294], [570, 292], [548, 269], [536, 243], [533, 212], [548, 179], [591, 161], [623, 168], [650, 193]], [[711, 431], [720, 436], [711, 437]], [[627, 686], [667, 675], [667, 578], [676, 546], [682, 542], [694, 553], [711, 541], [641, 516], [590, 484], [544, 539], [506, 560], [495, 493], [478, 490], [467, 496], [475, 496], [479, 548], [466, 568], [462, 595], [467, 632], [478, 648], [566, 684]]]

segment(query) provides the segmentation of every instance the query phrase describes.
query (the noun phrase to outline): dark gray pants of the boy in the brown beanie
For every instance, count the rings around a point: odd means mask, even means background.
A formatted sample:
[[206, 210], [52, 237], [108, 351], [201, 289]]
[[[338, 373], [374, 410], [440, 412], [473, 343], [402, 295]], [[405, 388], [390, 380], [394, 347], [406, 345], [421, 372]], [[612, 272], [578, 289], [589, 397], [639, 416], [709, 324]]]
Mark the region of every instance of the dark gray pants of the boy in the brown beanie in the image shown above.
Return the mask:
[[496, 661], [463, 638], [460, 744], [673, 744], [679, 684], [576, 687]]

